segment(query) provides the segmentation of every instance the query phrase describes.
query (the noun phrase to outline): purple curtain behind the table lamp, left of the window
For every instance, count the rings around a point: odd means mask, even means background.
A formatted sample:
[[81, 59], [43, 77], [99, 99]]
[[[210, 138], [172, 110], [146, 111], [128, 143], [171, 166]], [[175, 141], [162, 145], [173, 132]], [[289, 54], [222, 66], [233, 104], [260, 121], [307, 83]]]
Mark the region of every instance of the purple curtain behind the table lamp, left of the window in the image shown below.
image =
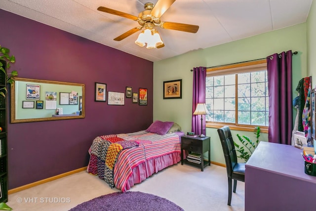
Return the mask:
[[193, 115], [196, 110], [197, 103], [205, 103], [206, 88], [206, 67], [193, 68], [193, 103], [192, 103], [192, 132], [205, 135], [205, 115], [203, 115], [203, 124], [201, 125], [201, 115]]

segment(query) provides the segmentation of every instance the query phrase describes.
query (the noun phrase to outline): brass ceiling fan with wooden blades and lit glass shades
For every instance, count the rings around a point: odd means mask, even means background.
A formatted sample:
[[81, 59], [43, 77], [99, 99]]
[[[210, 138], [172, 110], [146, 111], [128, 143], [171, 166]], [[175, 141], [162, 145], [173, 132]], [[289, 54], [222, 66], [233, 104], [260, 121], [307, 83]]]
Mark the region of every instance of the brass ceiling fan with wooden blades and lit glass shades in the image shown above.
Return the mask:
[[128, 18], [139, 23], [139, 27], [135, 27], [121, 34], [114, 39], [115, 41], [121, 41], [144, 28], [145, 31], [140, 33], [135, 43], [141, 47], [145, 46], [145, 43], [147, 43], [147, 48], [160, 48], [164, 46], [164, 43], [161, 41], [158, 31], [155, 29], [158, 26], [162, 29], [172, 29], [190, 33], [197, 33], [198, 30], [197, 25], [160, 21], [161, 15], [163, 15], [163, 13], [171, 6], [174, 1], [175, 0], [158, 0], [155, 6], [151, 2], [145, 3], [145, 10], [140, 12], [138, 17], [104, 6], [99, 6], [98, 10]]

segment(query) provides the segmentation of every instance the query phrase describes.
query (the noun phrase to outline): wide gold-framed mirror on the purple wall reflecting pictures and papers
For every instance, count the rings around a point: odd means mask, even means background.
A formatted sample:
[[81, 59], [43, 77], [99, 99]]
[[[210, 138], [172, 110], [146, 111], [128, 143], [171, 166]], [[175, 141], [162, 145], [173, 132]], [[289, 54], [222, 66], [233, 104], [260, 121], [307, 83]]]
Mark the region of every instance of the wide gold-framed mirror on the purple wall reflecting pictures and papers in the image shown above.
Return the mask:
[[84, 115], [84, 84], [14, 78], [11, 123], [79, 119]]

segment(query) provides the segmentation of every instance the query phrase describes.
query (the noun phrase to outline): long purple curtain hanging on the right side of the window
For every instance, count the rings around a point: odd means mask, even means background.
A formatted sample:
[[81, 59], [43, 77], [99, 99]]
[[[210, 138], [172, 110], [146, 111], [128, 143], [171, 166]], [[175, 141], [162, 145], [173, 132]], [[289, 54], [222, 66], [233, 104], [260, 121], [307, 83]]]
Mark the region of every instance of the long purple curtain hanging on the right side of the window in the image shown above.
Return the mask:
[[267, 57], [269, 142], [291, 145], [292, 51]]

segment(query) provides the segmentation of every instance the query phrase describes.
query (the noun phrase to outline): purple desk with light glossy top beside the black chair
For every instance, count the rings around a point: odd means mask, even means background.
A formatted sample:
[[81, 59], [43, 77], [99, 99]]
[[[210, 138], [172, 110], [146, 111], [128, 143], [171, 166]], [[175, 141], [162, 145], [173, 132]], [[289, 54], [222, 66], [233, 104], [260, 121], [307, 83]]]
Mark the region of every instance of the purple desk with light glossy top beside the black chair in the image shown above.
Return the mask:
[[260, 142], [246, 164], [245, 211], [315, 211], [316, 176], [304, 172], [302, 150]]

